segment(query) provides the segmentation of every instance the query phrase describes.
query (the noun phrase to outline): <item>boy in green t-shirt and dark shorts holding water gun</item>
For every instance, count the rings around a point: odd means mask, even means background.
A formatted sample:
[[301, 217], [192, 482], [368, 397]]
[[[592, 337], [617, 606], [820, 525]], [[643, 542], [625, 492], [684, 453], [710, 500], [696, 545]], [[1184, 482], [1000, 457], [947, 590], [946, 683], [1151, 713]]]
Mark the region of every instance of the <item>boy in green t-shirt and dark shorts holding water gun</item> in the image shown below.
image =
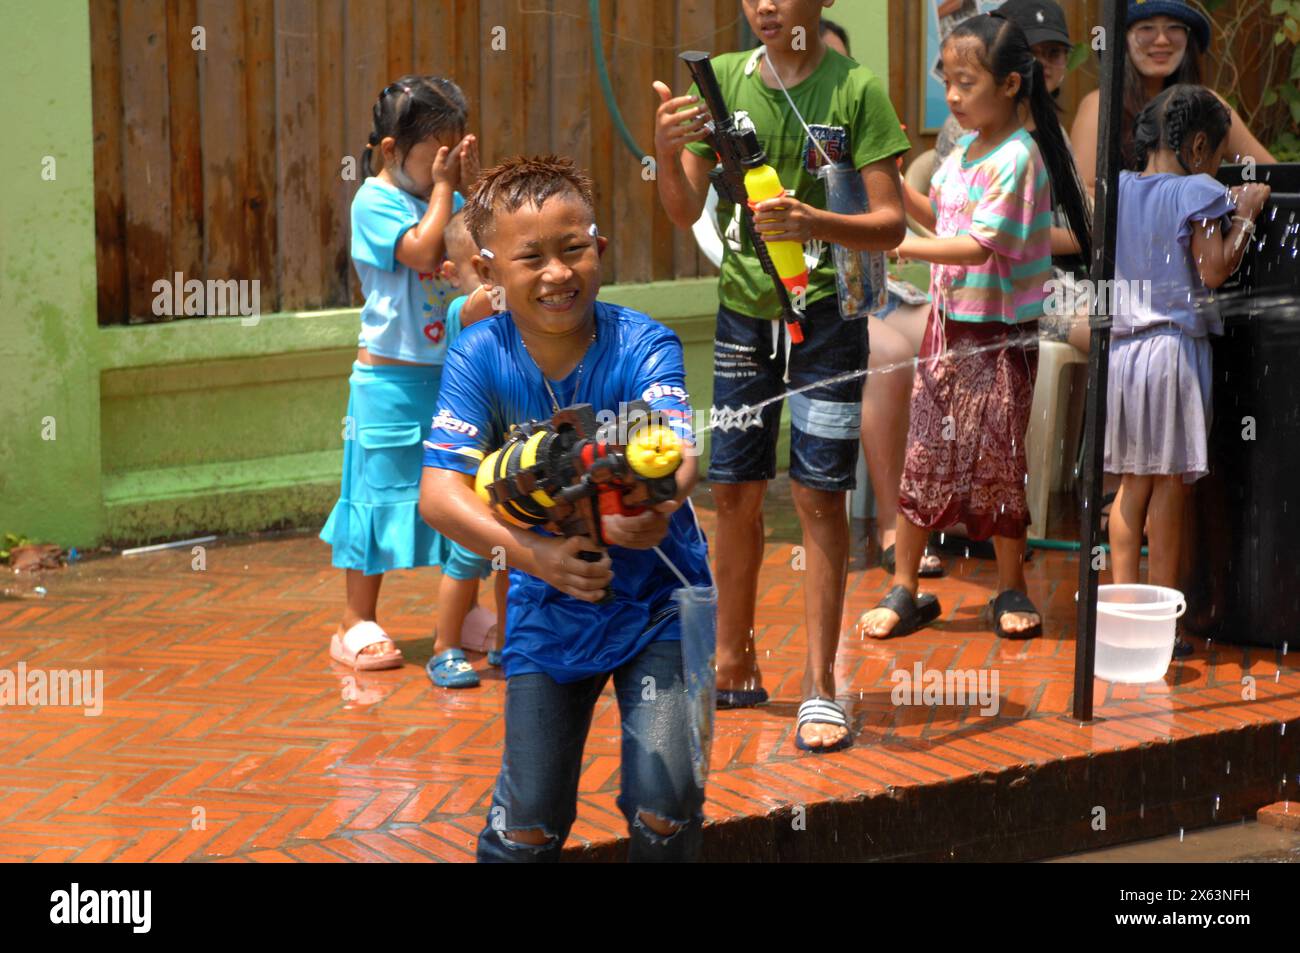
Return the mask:
[[[727, 105], [749, 114], [768, 164], [790, 194], [755, 207], [758, 233], [764, 241], [803, 243], [809, 264], [805, 339], [790, 345], [783, 341], [771, 278], [733, 218], [737, 209], [719, 204], [725, 241], [708, 478], [719, 515], [714, 551], [720, 707], [767, 699], [754, 654], [754, 602], [763, 556], [763, 495], [776, 476], [781, 402], [774, 400], [757, 417], [745, 410], [788, 389], [867, 367], [866, 321], [840, 319], [828, 246], [883, 251], [896, 247], [906, 231], [894, 159], [911, 146], [880, 81], [822, 40], [822, 8], [833, 1], [742, 0], [745, 18], [763, 46], [712, 61]], [[702, 142], [710, 117], [694, 87], [677, 98], [664, 83], [654, 87], [660, 99], [659, 199], [673, 224], [690, 228], [705, 207], [715, 165], [712, 150]], [[815, 173], [827, 160], [852, 163], [859, 172], [871, 212], [826, 211], [826, 183]], [[849, 559], [845, 493], [854, 488], [861, 397], [858, 378], [790, 397], [790, 482], [803, 525], [809, 632], [806, 701], [800, 706], [796, 745], [815, 751], [852, 744], [844, 709], [835, 701], [835, 653]]]

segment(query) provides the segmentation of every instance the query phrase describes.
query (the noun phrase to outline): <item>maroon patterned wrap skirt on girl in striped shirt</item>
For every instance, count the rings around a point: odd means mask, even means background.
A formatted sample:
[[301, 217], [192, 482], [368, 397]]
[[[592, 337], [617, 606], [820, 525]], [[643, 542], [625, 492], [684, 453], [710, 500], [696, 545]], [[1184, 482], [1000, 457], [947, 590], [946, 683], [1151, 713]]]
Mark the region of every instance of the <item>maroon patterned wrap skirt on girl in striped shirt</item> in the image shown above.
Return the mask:
[[1037, 322], [952, 321], [931, 312], [911, 390], [898, 510], [971, 540], [1030, 525], [1024, 436], [1039, 369]]

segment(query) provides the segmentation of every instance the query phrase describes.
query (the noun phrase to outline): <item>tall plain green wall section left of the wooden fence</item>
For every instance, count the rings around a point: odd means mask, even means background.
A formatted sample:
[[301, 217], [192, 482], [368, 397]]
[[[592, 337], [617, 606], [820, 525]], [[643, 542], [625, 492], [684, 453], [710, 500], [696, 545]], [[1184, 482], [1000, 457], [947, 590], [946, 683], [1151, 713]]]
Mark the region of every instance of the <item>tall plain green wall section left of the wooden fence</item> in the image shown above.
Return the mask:
[[0, 532], [84, 542], [100, 530], [90, 18], [0, 0]]

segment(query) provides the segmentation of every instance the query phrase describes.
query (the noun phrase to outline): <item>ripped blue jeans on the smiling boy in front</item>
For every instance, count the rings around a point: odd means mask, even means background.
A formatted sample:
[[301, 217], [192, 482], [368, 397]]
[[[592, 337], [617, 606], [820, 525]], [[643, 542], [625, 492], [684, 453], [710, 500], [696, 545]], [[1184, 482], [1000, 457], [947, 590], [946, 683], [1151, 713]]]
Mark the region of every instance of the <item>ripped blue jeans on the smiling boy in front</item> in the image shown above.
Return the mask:
[[[558, 861], [577, 816], [582, 746], [592, 712], [608, 680], [597, 675], [560, 685], [549, 675], [517, 675], [506, 685], [506, 753], [488, 823], [478, 835], [478, 862]], [[696, 861], [705, 796], [690, 762], [681, 644], [651, 642], [614, 672], [623, 727], [619, 809], [628, 820], [629, 861]], [[671, 822], [667, 837], [641, 814]], [[523, 844], [508, 831], [541, 829], [543, 845]]]

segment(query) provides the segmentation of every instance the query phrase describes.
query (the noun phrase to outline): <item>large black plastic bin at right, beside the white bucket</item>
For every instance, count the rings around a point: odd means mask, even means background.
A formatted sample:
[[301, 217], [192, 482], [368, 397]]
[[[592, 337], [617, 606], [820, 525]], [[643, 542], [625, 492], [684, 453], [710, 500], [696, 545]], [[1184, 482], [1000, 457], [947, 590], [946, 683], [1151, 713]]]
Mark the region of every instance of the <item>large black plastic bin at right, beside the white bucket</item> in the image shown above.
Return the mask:
[[[1300, 647], [1300, 164], [1254, 172], [1273, 196], [1221, 291], [1210, 475], [1191, 494], [1183, 624], [1202, 637]], [[1219, 178], [1240, 183], [1242, 166]]]

